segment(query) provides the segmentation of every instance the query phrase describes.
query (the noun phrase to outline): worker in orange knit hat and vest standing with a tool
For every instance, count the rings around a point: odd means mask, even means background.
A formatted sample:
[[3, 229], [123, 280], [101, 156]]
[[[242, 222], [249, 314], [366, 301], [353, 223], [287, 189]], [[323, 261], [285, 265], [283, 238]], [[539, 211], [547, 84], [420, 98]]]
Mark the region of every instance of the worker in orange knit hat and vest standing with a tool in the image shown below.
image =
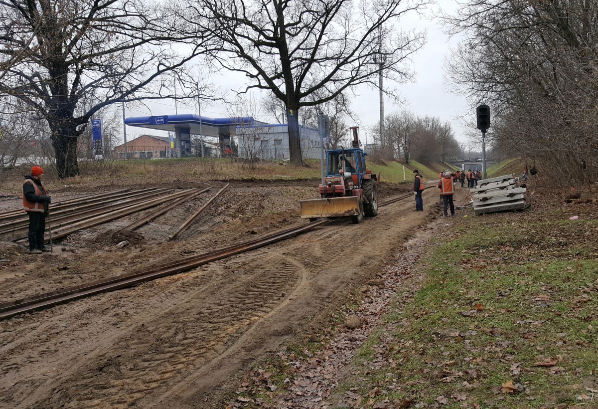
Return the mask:
[[50, 196], [42, 185], [44, 169], [39, 166], [31, 168], [31, 174], [25, 176], [23, 183], [23, 210], [29, 216], [29, 253], [41, 254], [49, 252], [44, 247], [45, 217], [48, 214]]

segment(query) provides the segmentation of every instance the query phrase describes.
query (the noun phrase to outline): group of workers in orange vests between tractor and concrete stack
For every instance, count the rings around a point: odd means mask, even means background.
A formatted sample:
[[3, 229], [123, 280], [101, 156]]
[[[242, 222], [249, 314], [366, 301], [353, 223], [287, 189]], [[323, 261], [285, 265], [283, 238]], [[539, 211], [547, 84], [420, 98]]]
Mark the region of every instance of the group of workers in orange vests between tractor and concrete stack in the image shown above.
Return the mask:
[[[414, 169], [413, 175], [415, 211], [423, 211], [422, 192], [425, 189], [425, 186], [423, 185], [423, 176], [417, 169]], [[443, 171], [438, 174], [438, 189], [440, 189], [440, 197], [443, 201], [444, 217], [449, 217], [449, 209], [450, 215], [454, 216], [454, 184], [460, 183], [461, 187], [464, 187], [465, 180], [467, 180], [468, 187], [476, 186], [478, 184], [478, 180], [481, 180], [480, 170], [476, 169], [475, 171], [472, 171], [471, 169], [468, 169], [467, 172], [463, 170], [452, 173], [449, 170], [443, 169]]]

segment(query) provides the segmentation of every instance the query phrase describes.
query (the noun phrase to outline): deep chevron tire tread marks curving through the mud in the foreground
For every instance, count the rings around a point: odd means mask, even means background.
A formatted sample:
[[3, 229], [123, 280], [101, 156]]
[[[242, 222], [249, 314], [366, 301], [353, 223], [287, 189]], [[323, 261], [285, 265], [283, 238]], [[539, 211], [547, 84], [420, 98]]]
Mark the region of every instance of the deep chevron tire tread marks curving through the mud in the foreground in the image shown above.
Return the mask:
[[[280, 269], [252, 272], [281, 257], [269, 252], [225, 265], [228, 278], [237, 275], [225, 283], [212, 280], [202, 293], [196, 294], [197, 298], [179, 302], [167, 317], [146, 321], [126, 337], [115, 340], [114, 351], [132, 353], [115, 355], [112, 349], [106, 349], [83, 371], [74, 371], [62, 380], [62, 390], [54, 392], [43, 406], [69, 402], [88, 407], [102, 402], [109, 407], [125, 407], [150, 391], [164, 395], [170, 378], [181, 374], [187, 374], [187, 378], [236, 346], [255, 323], [288, 302], [282, 294], [304, 285], [306, 273], [296, 262], [284, 261]], [[199, 299], [203, 294], [206, 298]]]

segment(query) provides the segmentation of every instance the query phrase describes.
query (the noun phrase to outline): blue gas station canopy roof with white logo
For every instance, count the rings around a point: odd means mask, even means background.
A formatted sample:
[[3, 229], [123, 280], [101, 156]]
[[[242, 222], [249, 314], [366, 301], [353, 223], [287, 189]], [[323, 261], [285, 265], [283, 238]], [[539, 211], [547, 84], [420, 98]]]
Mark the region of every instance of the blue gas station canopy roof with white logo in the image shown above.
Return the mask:
[[[254, 125], [253, 117], [237, 118], [209, 118], [196, 114], [177, 115], [155, 115], [129, 117], [124, 120], [129, 126], [139, 128], [159, 129], [161, 131], [175, 132], [175, 128], [188, 129], [193, 135], [206, 135], [218, 137], [218, 134], [234, 135], [237, 126]], [[202, 132], [199, 131], [199, 124], [202, 124]]]

